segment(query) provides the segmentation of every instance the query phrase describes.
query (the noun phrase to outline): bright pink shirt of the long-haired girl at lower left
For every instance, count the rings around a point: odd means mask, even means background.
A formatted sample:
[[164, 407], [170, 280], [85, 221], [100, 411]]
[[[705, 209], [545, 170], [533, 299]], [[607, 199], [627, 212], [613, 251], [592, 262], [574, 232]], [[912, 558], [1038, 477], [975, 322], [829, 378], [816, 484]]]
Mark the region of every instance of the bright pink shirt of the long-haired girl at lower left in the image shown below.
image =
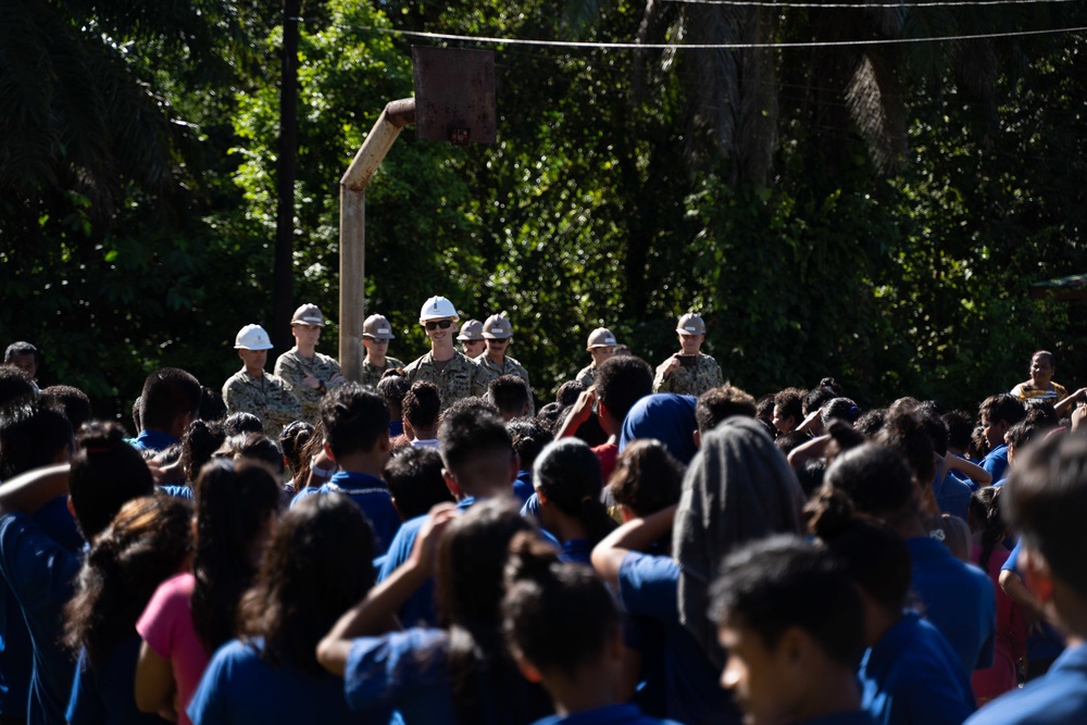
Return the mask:
[[170, 660], [177, 683], [174, 707], [182, 725], [191, 725], [185, 711], [211, 659], [192, 626], [190, 601], [195, 586], [196, 578], [191, 574], [166, 579], [159, 585], [136, 623], [136, 630], [147, 646], [163, 660]]

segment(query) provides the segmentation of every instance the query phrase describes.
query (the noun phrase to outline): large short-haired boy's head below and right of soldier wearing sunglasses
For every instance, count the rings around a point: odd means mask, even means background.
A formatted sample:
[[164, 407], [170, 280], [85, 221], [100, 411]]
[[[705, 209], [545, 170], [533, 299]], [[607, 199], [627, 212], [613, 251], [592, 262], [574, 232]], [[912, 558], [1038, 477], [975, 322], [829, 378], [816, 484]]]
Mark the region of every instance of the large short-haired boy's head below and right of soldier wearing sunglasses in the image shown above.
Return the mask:
[[509, 490], [517, 476], [517, 454], [495, 408], [483, 400], [460, 400], [438, 425], [446, 483], [464, 496]]

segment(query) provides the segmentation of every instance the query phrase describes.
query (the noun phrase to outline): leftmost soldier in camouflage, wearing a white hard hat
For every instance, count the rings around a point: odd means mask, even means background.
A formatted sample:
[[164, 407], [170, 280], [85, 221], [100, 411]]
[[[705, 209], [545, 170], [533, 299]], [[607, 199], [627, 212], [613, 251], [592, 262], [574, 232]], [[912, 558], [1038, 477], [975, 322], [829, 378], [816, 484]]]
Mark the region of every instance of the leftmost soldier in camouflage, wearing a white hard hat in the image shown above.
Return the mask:
[[302, 405], [286, 383], [264, 372], [272, 341], [260, 325], [246, 325], [234, 343], [245, 366], [223, 384], [226, 413], [252, 413], [264, 434], [279, 439], [284, 426], [302, 416]]

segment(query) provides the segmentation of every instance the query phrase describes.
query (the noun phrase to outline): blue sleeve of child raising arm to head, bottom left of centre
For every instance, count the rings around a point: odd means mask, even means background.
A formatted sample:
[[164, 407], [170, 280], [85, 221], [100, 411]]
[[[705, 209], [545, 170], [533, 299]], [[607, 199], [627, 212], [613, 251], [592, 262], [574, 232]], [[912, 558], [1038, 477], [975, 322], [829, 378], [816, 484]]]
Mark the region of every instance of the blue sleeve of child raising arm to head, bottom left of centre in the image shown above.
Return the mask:
[[348, 707], [396, 708], [404, 698], [448, 687], [448, 641], [442, 629], [421, 628], [355, 639], [343, 672]]

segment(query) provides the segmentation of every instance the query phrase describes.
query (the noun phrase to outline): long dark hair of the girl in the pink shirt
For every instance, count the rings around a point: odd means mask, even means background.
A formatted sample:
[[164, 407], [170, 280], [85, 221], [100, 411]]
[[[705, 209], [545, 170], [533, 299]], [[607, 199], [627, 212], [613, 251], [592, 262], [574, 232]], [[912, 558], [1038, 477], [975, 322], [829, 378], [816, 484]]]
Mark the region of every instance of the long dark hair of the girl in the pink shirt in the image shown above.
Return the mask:
[[215, 459], [195, 487], [192, 625], [208, 652], [235, 635], [238, 602], [255, 575], [251, 549], [279, 503], [279, 486], [260, 463]]

